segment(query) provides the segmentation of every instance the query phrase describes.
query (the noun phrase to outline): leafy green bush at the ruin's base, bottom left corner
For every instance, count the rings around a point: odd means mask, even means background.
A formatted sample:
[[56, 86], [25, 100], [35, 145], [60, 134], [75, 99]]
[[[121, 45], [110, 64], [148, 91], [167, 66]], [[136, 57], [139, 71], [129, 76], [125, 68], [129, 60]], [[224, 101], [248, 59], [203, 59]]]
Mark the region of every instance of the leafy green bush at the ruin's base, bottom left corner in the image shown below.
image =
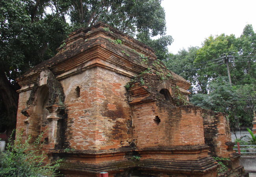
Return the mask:
[[31, 142], [30, 136], [22, 143], [21, 134], [16, 136], [14, 145], [11, 145], [9, 141], [7, 150], [0, 152], [0, 176], [56, 176], [61, 160], [55, 161], [54, 164], [43, 165], [46, 153], [42, 150], [42, 136], [43, 134], [39, 135], [32, 144], [29, 143]]

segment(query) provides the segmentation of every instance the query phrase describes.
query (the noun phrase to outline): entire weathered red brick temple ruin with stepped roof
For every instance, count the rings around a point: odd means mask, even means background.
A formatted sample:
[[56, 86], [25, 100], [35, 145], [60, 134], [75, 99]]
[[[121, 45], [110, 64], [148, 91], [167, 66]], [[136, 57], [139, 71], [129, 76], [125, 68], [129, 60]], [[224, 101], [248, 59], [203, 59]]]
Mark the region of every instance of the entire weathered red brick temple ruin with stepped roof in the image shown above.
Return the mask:
[[66, 176], [217, 176], [243, 171], [222, 113], [189, 105], [191, 86], [152, 48], [99, 22], [17, 79], [17, 130], [44, 132]]

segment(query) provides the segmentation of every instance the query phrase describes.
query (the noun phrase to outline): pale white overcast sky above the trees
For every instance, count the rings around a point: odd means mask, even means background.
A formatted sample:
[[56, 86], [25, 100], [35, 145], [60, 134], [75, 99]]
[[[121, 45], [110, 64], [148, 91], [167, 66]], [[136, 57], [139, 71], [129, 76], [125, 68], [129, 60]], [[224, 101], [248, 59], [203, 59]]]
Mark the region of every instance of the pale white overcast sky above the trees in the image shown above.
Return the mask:
[[210, 35], [239, 37], [246, 24], [256, 31], [256, 0], [163, 0], [166, 35], [174, 42], [169, 52], [201, 46]]

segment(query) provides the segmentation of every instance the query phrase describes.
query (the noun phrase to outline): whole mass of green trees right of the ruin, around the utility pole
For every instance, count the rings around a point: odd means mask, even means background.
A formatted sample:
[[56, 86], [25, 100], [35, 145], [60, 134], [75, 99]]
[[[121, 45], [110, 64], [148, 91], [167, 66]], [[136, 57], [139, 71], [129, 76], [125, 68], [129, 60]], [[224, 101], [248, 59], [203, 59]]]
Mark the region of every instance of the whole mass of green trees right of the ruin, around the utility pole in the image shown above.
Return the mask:
[[[231, 128], [252, 125], [256, 105], [256, 33], [246, 25], [240, 37], [210, 36], [202, 46], [182, 49], [165, 59], [167, 67], [189, 80], [190, 101], [226, 113]], [[228, 81], [227, 66], [232, 86]]]

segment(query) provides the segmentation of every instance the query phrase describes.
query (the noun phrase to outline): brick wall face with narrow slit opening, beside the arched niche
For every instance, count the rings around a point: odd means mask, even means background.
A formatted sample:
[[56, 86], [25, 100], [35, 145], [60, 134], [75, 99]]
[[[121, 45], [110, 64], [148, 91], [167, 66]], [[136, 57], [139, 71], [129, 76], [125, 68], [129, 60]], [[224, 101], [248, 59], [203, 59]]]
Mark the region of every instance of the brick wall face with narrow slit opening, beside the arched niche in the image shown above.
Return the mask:
[[[70, 77], [61, 81], [66, 94], [65, 106], [67, 119], [64, 122], [64, 148], [95, 149], [96, 101], [97, 92], [94, 75], [96, 68], [82, 73], [76, 80]], [[78, 76], [77, 76], [78, 77]], [[81, 79], [81, 80], [80, 80]], [[67, 85], [65, 82], [70, 82]], [[67, 85], [67, 86], [66, 86]], [[76, 87], [80, 88], [80, 97], [76, 98]]]

